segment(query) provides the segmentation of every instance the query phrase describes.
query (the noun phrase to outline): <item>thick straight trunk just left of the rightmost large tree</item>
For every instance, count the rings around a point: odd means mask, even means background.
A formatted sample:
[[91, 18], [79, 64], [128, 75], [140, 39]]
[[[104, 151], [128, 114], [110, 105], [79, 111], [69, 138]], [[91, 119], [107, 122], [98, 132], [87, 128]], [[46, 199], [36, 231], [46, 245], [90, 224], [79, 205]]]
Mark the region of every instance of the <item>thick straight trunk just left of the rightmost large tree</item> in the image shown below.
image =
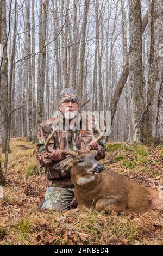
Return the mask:
[[[140, 0], [129, 1], [129, 77], [131, 88], [132, 118], [133, 126], [139, 121], [140, 115], [145, 107], [143, 99], [143, 69], [142, 69], [142, 21]], [[133, 140], [142, 142], [142, 123], [136, 128]]]

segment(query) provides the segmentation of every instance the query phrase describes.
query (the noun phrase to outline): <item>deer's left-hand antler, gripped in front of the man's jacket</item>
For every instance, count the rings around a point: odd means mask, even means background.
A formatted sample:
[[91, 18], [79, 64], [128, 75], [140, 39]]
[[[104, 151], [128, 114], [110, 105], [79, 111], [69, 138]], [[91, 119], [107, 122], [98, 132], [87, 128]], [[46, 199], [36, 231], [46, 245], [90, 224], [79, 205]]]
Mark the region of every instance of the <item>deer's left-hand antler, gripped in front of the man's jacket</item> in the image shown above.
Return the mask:
[[[42, 132], [42, 124], [41, 124], [41, 138], [44, 144], [44, 147], [46, 149], [47, 152], [52, 153], [54, 151], [54, 149], [52, 149], [51, 147], [48, 147], [48, 143], [51, 140], [52, 136], [54, 135], [54, 132], [57, 130], [58, 126], [54, 129], [54, 131], [48, 136], [47, 140], [45, 141], [45, 138], [43, 137], [43, 132]], [[68, 146], [68, 139], [66, 137], [66, 141], [67, 141], [67, 150], [61, 150], [62, 153], [64, 153], [65, 155], [71, 155], [71, 156], [77, 156], [78, 153], [76, 151], [72, 151], [69, 146]]]

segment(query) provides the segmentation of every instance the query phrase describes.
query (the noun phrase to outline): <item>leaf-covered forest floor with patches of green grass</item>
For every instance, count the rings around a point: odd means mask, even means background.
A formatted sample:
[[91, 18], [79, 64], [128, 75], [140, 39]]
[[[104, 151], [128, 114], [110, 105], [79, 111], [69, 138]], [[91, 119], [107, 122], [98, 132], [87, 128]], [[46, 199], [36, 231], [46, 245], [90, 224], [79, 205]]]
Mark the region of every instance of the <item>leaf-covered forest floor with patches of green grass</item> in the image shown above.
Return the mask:
[[[36, 149], [17, 145], [34, 147], [26, 138], [11, 139], [7, 185], [0, 199], [0, 245], [163, 245], [163, 211], [159, 208], [134, 217], [95, 210], [40, 211], [45, 174], [37, 168]], [[107, 144], [105, 160], [118, 147]], [[163, 145], [128, 145], [105, 168], [157, 188], [163, 180]]]

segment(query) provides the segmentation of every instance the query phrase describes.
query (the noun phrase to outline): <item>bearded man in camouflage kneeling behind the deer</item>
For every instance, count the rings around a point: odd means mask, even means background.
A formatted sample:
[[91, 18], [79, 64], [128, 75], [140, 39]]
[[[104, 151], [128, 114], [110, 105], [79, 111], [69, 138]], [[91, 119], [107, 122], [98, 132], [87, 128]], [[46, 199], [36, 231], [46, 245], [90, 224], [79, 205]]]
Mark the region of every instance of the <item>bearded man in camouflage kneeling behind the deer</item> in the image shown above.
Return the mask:
[[[66, 165], [67, 155], [61, 150], [85, 149], [89, 144], [90, 150], [96, 150], [95, 159], [105, 157], [105, 147], [102, 141], [96, 142], [89, 130], [90, 118], [84, 117], [79, 111], [79, 100], [76, 89], [65, 88], [60, 95], [59, 114], [56, 117], [43, 121], [37, 133], [37, 160], [46, 168], [47, 190], [45, 199], [39, 208], [66, 210], [77, 207], [74, 199], [74, 185], [71, 181], [70, 167]], [[93, 119], [92, 119], [93, 120]], [[92, 121], [93, 123], [93, 121]], [[57, 128], [56, 128], [57, 127]], [[52, 153], [46, 151], [42, 136], [45, 141], [57, 129], [50, 139], [48, 147], [54, 149]], [[92, 129], [93, 135], [98, 136], [98, 131]], [[68, 144], [68, 145], [67, 145]]]

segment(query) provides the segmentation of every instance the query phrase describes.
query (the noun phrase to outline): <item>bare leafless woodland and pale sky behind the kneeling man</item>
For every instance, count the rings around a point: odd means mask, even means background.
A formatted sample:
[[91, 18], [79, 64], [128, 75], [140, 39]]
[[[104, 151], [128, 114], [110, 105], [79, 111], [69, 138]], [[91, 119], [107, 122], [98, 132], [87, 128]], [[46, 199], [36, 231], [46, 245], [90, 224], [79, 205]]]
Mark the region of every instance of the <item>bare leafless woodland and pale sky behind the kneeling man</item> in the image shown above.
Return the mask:
[[67, 86], [90, 99], [83, 110], [111, 111], [111, 141], [126, 141], [143, 109], [133, 141], [163, 141], [162, 0], [1, 0], [0, 20], [3, 151], [9, 133], [35, 141]]

